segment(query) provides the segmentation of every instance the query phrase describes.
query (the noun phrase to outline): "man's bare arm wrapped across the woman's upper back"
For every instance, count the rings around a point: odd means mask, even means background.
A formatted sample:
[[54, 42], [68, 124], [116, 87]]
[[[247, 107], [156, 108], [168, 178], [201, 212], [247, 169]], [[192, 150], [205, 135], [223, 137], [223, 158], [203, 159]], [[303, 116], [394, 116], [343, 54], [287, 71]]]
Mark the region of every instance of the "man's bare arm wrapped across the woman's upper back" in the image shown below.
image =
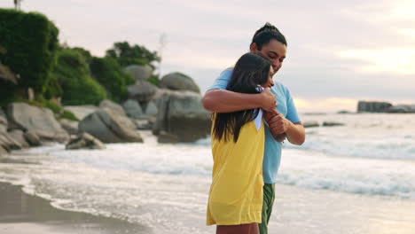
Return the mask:
[[207, 111], [215, 113], [231, 113], [260, 107], [264, 110], [273, 110], [277, 106], [275, 96], [269, 88], [258, 94], [207, 90], [202, 102]]

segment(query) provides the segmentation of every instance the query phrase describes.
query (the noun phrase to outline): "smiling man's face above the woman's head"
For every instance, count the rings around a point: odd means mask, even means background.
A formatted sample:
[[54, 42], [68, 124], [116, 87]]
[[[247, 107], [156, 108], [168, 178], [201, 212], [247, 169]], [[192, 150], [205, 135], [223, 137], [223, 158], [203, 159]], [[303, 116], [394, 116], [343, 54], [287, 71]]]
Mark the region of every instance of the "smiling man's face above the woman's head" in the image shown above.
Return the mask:
[[251, 52], [261, 53], [263, 56], [269, 58], [274, 69], [274, 74], [276, 74], [286, 58], [286, 45], [275, 39], [271, 39], [270, 43], [262, 45], [261, 51], [258, 51], [254, 44], [254, 46], [251, 46]]

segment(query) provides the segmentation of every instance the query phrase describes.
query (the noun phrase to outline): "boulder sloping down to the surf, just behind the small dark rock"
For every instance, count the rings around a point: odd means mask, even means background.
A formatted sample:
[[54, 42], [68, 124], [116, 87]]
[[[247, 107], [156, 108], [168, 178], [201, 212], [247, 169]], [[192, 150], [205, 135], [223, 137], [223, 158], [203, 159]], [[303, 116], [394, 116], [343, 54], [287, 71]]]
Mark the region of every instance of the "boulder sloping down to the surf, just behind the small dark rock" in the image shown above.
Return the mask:
[[79, 122], [79, 130], [105, 143], [143, 142], [136, 125], [127, 116], [102, 108]]

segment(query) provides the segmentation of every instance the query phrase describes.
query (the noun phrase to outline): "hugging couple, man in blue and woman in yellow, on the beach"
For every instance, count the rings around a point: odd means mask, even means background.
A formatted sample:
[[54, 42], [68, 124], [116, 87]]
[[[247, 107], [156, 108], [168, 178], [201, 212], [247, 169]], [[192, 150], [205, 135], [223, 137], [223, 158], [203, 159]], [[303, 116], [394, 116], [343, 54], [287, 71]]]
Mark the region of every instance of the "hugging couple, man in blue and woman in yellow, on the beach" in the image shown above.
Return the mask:
[[213, 113], [207, 225], [217, 234], [268, 233], [281, 143], [305, 139], [289, 90], [272, 81], [286, 58], [285, 36], [266, 23], [249, 49], [203, 98]]

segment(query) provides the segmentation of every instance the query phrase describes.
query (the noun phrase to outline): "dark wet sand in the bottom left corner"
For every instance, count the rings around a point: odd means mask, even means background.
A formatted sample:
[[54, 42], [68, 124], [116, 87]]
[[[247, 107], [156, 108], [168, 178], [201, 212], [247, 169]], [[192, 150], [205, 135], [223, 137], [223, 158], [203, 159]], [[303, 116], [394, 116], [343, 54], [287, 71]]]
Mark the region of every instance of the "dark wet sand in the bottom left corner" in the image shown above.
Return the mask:
[[151, 233], [144, 226], [51, 206], [51, 201], [22, 191], [22, 186], [0, 182], [0, 233]]

